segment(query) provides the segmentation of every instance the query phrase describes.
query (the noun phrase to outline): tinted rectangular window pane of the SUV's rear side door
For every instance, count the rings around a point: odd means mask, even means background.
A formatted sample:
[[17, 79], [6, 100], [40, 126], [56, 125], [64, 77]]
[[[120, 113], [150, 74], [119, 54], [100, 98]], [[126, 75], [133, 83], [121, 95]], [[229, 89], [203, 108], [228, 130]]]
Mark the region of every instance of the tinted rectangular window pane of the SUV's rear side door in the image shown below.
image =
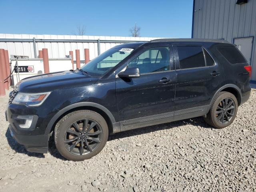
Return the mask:
[[204, 52], [202, 47], [178, 46], [180, 69], [204, 67]]

